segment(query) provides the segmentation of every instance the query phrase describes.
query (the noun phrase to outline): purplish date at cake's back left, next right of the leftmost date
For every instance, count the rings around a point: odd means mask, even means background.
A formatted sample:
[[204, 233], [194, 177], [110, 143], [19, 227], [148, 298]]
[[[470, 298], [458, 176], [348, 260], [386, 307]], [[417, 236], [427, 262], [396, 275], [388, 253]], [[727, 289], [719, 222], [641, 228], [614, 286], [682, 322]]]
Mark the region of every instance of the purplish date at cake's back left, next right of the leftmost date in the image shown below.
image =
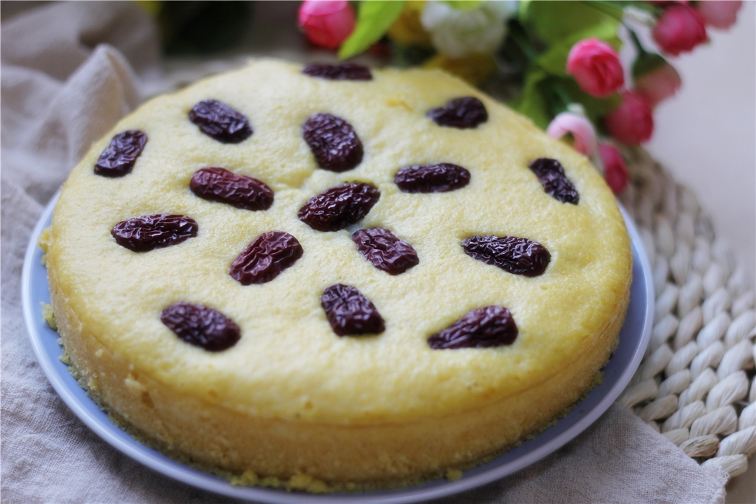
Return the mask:
[[218, 100], [202, 100], [189, 111], [189, 120], [205, 135], [223, 144], [238, 144], [253, 131], [249, 119]]

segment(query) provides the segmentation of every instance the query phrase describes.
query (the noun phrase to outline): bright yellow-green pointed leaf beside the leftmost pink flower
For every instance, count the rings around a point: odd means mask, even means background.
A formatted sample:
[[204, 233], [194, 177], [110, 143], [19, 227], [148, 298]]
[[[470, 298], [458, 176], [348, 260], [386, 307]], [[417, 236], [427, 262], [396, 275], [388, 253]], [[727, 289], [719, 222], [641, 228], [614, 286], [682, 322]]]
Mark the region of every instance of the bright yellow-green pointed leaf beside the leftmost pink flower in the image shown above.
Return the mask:
[[404, 2], [366, 0], [360, 2], [355, 31], [339, 49], [339, 58], [345, 60], [365, 51], [386, 34], [389, 26], [401, 14]]

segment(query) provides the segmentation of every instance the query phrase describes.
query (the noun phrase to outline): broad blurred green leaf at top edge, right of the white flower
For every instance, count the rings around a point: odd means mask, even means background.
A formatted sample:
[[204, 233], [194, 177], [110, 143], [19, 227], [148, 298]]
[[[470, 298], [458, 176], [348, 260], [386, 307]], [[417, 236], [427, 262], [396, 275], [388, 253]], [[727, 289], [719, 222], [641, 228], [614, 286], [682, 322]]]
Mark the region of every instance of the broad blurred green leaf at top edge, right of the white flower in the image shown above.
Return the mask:
[[607, 20], [611, 18], [585, 2], [531, 2], [528, 8], [528, 22], [547, 45]]

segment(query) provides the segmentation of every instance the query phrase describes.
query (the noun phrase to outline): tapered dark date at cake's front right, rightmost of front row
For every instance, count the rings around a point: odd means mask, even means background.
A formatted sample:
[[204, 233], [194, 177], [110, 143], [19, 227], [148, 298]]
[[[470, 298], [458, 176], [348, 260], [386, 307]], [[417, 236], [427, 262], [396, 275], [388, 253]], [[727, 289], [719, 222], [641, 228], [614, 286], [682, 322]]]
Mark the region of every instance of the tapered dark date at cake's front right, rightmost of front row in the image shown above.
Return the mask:
[[512, 313], [503, 306], [486, 306], [468, 311], [442, 332], [430, 335], [428, 345], [434, 350], [490, 348], [512, 345], [516, 338]]

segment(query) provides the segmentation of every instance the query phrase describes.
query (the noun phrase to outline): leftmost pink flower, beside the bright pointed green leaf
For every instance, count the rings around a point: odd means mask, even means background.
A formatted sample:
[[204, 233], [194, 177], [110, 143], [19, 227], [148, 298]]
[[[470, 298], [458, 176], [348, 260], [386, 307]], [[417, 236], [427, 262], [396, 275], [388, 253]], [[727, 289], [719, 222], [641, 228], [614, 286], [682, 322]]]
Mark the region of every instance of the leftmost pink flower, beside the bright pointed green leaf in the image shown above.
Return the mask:
[[313, 44], [336, 49], [355, 31], [355, 11], [346, 0], [305, 0], [299, 26]]

